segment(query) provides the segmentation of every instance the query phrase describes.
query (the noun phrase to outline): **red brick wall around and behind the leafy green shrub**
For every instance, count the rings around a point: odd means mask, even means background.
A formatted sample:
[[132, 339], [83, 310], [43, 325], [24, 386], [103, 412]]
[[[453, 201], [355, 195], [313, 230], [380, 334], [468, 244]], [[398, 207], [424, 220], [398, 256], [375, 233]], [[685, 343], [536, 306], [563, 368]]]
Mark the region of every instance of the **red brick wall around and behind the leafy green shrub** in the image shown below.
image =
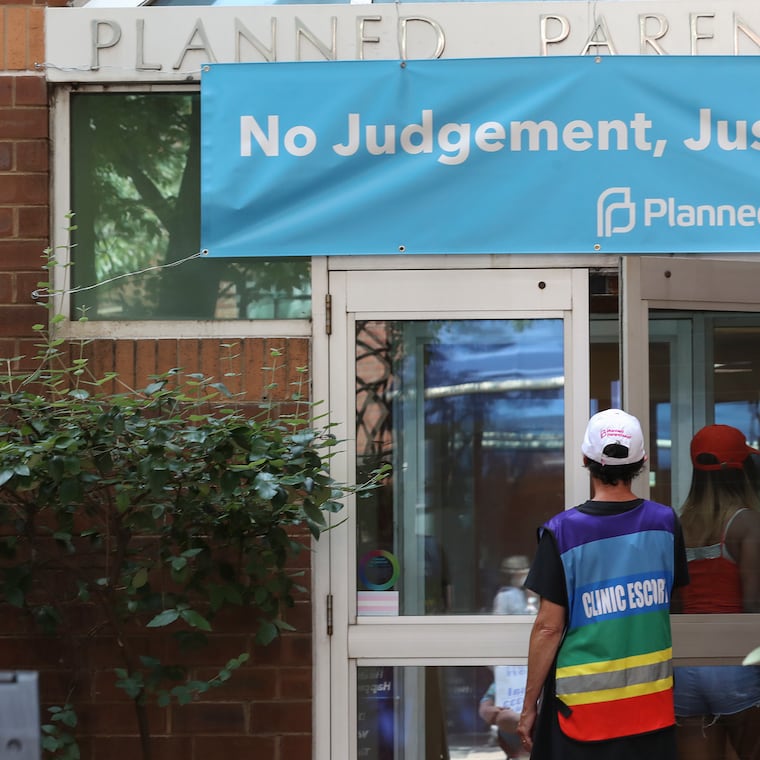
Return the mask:
[[[49, 245], [50, 142], [48, 92], [35, 64], [45, 60], [44, 2], [0, 4], [0, 357], [34, 353], [32, 325], [44, 321], [31, 297], [39, 280], [42, 251]], [[49, 5], [65, 6], [65, 0]], [[283, 353], [274, 377], [269, 349]], [[258, 401], [270, 392], [289, 395], [301, 379], [297, 367], [308, 363], [307, 340], [241, 340], [224, 380], [233, 392]], [[87, 348], [96, 373], [112, 369], [132, 387], [171, 367], [195, 368], [221, 377], [230, 371], [220, 358], [217, 340], [95, 340]], [[309, 585], [309, 556], [298, 562]], [[183, 708], [151, 712], [153, 760], [308, 760], [311, 757], [311, 606], [299, 600], [289, 620], [295, 633], [265, 649], [251, 641], [251, 611], [230, 619], [194, 673], [207, 675], [213, 662], [241, 651], [249, 663], [231, 682], [208, 698]], [[84, 621], [86, 623], [86, 621]], [[0, 670], [30, 669], [40, 673], [43, 706], [74, 699], [80, 715], [77, 735], [85, 760], [139, 758], [136, 723], [129, 702], [113, 686], [106, 652], [113, 641], [93, 642], [64, 652], [6, 605], [0, 605]], [[101, 646], [102, 644], [102, 646]], [[72, 660], [72, 656], [74, 660]], [[47, 715], [43, 714], [47, 719]]]

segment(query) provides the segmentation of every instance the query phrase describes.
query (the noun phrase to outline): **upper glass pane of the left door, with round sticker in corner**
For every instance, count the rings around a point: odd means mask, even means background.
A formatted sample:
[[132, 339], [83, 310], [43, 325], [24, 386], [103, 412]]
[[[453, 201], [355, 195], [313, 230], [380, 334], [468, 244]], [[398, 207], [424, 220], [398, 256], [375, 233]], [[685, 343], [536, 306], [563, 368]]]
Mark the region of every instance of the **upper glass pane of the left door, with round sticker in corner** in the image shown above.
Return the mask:
[[[357, 325], [359, 614], [490, 614], [502, 560], [562, 509], [562, 321]], [[359, 474], [361, 477], [361, 473]]]

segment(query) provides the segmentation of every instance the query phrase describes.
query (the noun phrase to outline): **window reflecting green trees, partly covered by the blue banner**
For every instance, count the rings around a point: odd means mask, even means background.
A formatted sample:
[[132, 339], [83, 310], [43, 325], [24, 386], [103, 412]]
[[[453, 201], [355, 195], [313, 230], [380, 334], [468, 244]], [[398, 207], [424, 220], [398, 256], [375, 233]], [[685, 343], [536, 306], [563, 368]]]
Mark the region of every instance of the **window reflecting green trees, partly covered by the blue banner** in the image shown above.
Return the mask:
[[71, 197], [72, 319], [310, 316], [309, 259], [200, 256], [197, 92], [72, 93]]

